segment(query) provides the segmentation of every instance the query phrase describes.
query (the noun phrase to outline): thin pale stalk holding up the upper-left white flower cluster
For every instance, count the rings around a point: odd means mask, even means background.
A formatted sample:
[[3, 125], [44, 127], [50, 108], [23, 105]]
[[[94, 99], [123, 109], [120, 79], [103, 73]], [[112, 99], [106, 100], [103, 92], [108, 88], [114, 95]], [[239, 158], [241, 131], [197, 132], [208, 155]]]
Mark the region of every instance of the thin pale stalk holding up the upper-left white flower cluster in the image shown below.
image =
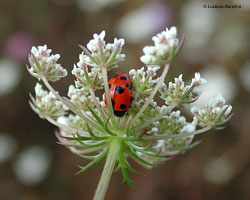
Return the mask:
[[49, 84], [49, 82], [47, 81], [46, 77], [43, 77], [42, 81], [44, 82], [44, 84], [46, 85], [46, 87], [55, 95], [55, 97], [59, 101], [61, 101], [65, 106], [67, 106], [73, 113], [75, 113], [76, 115], [78, 115], [79, 117], [81, 117], [82, 119], [84, 119], [85, 121], [87, 121], [88, 123], [90, 123], [91, 125], [93, 125], [96, 129], [100, 130], [100, 127], [99, 127], [99, 125], [97, 123], [95, 123], [93, 120], [89, 119], [89, 117], [87, 115], [84, 115], [84, 113], [82, 114], [77, 109], [75, 109], [74, 106], [69, 102], [68, 99], [62, 98], [58, 94], [58, 92], [56, 92], [54, 90], [54, 88]]

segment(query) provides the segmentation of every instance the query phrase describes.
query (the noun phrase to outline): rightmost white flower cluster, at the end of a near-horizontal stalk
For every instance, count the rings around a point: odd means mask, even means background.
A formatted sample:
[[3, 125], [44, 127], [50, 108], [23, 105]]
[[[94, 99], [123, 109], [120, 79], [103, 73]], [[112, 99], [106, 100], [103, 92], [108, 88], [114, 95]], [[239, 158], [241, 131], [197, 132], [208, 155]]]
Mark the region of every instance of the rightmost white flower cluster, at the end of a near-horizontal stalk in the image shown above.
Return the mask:
[[232, 115], [232, 106], [225, 104], [225, 99], [221, 93], [210, 99], [205, 108], [192, 107], [191, 112], [194, 114], [193, 124], [200, 127], [215, 127], [219, 129], [223, 126]]

